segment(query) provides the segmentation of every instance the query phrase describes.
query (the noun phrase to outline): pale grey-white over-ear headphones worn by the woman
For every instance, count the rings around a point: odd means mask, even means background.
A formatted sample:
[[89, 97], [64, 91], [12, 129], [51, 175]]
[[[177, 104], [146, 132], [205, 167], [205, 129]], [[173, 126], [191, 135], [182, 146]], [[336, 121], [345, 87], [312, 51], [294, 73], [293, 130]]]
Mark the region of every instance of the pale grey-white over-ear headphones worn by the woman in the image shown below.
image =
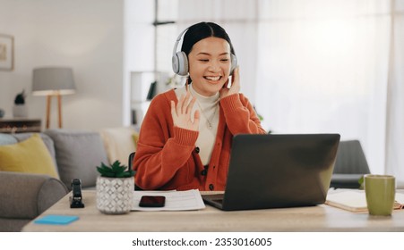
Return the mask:
[[[184, 33], [188, 29], [189, 28], [185, 29], [183, 32], [179, 34], [179, 36], [176, 38], [176, 44], [174, 45], [173, 49], [173, 58], [172, 58], [173, 71], [180, 76], [188, 75], [189, 71], [188, 58], [186, 57], [184, 51], [177, 52], [176, 49], [179, 44], [179, 41], [181, 40], [181, 37], [183, 37]], [[237, 66], [237, 57], [235, 54], [230, 54], [230, 59], [231, 59], [230, 75], [232, 75], [233, 71], [236, 69]]]

